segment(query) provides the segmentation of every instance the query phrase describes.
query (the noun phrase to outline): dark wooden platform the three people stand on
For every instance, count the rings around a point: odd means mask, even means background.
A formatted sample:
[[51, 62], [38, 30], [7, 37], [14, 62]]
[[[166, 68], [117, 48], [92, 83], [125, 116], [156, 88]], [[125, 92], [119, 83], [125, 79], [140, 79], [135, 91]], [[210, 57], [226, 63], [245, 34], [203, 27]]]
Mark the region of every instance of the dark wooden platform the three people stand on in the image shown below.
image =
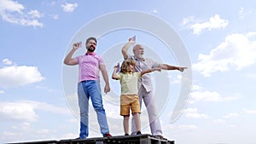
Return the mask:
[[60, 141], [28, 141], [13, 144], [174, 144], [174, 141], [160, 139], [152, 135], [129, 135], [112, 137], [93, 137], [84, 140], [60, 140]]

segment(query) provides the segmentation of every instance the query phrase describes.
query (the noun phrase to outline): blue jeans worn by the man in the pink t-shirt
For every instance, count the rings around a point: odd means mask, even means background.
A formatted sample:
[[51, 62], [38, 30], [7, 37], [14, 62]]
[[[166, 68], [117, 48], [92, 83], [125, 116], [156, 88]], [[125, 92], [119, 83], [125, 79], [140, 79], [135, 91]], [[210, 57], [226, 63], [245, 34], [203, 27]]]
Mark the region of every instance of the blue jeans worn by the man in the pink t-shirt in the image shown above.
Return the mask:
[[102, 93], [100, 82], [98, 80], [83, 81], [78, 84], [79, 109], [80, 109], [80, 138], [86, 138], [89, 135], [88, 130], [88, 112], [89, 99], [96, 111], [97, 120], [100, 124], [102, 135], [108, 134], [108, 122], [105, 109], [102, 104]]

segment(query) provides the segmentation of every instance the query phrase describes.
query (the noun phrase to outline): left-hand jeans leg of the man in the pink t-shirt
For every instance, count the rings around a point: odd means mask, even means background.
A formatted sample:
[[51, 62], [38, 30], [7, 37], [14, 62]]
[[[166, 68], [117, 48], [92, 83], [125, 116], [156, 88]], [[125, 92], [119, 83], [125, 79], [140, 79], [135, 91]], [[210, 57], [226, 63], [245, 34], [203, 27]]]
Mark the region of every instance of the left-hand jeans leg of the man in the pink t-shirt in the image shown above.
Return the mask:
[[80, 109], [80, 139], [85, 139], [89, 135], [88, 131], [88, 101], [89, 95], [87, 93], [84, 82], [78, 84], [79, 95], [79, 109]]

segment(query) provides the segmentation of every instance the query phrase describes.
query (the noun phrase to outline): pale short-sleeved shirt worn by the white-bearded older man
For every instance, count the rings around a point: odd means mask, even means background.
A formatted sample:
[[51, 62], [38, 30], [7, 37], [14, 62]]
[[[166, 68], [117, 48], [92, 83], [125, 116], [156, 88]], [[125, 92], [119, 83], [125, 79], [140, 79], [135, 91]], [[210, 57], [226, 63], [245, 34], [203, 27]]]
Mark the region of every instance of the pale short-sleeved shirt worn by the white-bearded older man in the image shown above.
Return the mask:
[[[137, 59], [135, 55], [128, 55], [128, 59], [136, 60], [135, 72], [142, 72], [150, 68], [156, 68], [160, 65], [159, 62], [149, 58], [144, 58], [143, 60]], [[143, 77], [138, 80], [138, 89], [140, 89], [142, 85], [147, 91], [153, 90], [150, 73], [144, 74]]]

